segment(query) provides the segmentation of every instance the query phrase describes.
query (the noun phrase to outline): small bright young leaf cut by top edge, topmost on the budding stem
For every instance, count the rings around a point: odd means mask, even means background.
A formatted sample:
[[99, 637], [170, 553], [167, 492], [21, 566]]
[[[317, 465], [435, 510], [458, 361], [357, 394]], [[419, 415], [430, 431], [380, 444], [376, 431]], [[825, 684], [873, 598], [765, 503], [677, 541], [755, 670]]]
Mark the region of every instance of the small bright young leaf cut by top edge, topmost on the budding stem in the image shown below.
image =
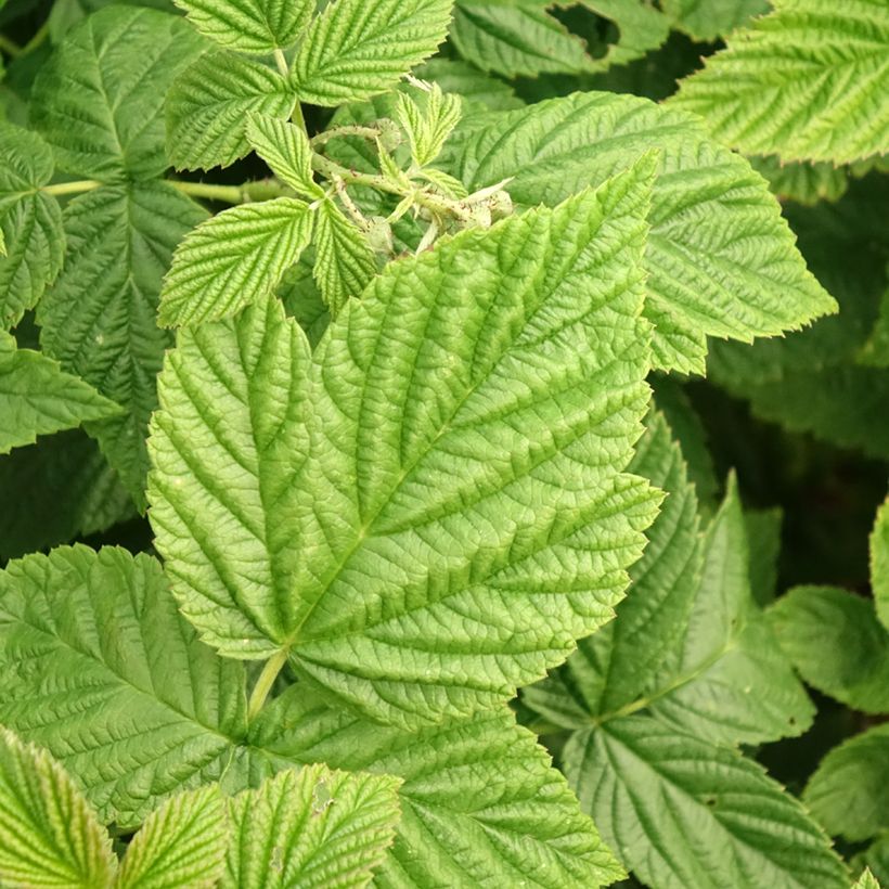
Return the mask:
[[176, 0], [189, 22], [228, 50], [269, 53], [295, 43], [308, 27], [312, 0]]

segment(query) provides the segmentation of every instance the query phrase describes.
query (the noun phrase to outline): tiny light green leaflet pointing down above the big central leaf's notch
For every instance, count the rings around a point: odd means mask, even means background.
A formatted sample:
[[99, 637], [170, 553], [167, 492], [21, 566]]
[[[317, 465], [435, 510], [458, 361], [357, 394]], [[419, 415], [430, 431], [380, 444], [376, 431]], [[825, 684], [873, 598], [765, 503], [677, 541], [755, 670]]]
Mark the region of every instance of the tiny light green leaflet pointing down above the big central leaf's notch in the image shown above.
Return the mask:
[[331, 201], [319, 205], [314, 228], [314, 266], [324, 304], [336, 317], [347, 300], [358, 297], [376, 273], [368, 239]]

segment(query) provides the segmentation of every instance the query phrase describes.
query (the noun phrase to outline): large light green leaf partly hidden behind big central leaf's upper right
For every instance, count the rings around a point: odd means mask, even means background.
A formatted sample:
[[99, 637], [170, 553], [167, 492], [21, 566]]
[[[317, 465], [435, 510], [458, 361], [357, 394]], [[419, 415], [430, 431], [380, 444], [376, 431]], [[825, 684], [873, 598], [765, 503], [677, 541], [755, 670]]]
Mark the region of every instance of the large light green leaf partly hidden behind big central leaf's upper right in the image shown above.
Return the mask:
[[512, 177], [513, 199], [532, 206], [601, 182], [655, 146], [645, 314], [657, 366], [703, 373], [707, 336], [749, 342], [835, 310], [765, 182], [687, 115], [629, 95], [577, 93], [469, 118], [446, 156], [471, 191]]

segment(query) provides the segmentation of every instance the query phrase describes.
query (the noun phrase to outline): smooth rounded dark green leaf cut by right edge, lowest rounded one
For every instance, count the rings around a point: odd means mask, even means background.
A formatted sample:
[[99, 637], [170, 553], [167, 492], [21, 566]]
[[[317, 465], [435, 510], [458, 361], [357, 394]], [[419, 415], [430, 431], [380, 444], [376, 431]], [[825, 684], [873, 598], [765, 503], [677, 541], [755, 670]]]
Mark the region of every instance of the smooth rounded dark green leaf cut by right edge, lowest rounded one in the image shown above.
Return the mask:
[[889, 827], [889, 723], [835, 747], [802, 799], [832, 833], [856, 841]]

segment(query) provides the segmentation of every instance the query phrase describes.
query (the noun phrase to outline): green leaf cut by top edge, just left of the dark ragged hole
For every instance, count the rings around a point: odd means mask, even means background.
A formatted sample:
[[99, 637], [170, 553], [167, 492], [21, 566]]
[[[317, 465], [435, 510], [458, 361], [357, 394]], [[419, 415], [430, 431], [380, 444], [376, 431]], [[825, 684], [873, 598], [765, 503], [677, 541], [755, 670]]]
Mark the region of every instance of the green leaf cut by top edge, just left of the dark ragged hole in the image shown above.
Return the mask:
[[545, 5], [540, 0], [458, 0], [450, 40], [467, 62], [510, 78], [590, 70], [593, 62], [583, 41]]

